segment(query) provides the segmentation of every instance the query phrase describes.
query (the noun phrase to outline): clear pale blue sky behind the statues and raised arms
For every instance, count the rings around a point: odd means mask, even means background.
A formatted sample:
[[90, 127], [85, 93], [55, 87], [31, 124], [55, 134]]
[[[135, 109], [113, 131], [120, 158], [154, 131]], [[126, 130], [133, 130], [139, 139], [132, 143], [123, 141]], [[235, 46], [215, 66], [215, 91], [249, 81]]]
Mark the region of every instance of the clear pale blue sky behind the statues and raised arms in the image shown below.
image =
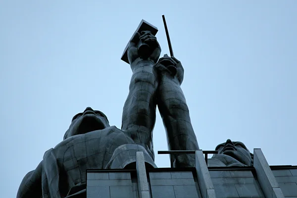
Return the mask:
[[[200, 148], [231, 139], [270, 165], [297, 165], [296, 0], [0, 0], [3, 198], [87, 106], [121, 127], [132, 72], [120, 57], [142, 19], [169, 54], [162, 14]], [[158, 112], [153, 136], [166, 150]]]

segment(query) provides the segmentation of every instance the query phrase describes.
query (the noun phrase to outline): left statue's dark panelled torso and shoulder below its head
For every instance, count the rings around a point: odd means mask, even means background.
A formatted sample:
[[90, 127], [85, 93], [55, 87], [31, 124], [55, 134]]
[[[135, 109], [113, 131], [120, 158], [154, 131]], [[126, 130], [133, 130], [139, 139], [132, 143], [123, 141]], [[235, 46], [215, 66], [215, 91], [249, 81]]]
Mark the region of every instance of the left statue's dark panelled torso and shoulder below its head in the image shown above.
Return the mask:
[[72, 186], [86, 181], [87, 169], [105, 168], [114, 150], [125, 144], [134, 142], [125, 132], [111, 126], [70, 137], [49, 149], [44, 155], [42, 177], [47, 178], [50, 194], [58, 189], [65, 189], [60, 194], [67, 194]]

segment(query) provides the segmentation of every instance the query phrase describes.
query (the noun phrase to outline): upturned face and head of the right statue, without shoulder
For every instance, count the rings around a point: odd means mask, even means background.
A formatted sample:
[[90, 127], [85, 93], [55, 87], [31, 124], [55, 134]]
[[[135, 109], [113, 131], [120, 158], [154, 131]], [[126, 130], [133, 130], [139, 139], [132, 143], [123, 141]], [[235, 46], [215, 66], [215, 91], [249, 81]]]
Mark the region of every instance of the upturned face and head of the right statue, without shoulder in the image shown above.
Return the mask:
[[250, 152], [242, 142], [232, 142], [228, 139], [225, 143], [219, 144], [215, 150], [218, 151], [218, 154], [229, 155], [247, 166], [251, 165]]

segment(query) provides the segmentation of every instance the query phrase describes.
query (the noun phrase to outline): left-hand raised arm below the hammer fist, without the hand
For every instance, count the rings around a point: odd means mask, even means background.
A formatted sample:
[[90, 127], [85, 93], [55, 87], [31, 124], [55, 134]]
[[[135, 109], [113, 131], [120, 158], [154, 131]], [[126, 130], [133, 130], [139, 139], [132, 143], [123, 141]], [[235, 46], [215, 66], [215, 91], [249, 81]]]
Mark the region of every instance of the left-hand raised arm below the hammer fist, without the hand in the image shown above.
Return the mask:
[[126, 99], [122, 130], [126, 131], [135, 144], [147, 149], [154, 159], [152, 130], [155, 124], [157, 73], [151, 61], [140, 61], [133, 71], [129, 95]]

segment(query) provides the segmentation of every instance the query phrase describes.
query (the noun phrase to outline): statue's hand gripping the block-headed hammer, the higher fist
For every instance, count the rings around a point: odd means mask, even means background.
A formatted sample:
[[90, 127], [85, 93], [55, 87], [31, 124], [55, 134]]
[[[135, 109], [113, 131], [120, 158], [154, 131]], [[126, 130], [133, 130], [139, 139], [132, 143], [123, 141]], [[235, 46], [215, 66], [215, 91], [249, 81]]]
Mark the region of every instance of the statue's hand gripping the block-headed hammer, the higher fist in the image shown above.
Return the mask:
[[138, 51], [139, 42], [145, 43], [149, 46], [150, 51], [147, 59], [156, 63], [160, 57], [161, 47], [155, 36], [153, 36], [149, 31], [142, 31], [141, 34], [136, 32], [130, 41], [128, 48], [128, 60], [130, 65], [132, 65], [136, 59], [141, 58]]

